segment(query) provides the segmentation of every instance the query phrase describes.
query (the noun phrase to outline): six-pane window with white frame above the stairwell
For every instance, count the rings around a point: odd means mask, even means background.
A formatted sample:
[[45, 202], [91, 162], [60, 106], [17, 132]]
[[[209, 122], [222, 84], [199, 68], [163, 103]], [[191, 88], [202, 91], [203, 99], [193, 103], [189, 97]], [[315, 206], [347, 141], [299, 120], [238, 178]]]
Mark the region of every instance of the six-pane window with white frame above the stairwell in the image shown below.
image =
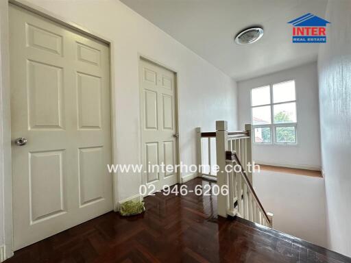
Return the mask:
[[255, 143], [296, 144], [295, 81], [252, 88], [251, 110]]

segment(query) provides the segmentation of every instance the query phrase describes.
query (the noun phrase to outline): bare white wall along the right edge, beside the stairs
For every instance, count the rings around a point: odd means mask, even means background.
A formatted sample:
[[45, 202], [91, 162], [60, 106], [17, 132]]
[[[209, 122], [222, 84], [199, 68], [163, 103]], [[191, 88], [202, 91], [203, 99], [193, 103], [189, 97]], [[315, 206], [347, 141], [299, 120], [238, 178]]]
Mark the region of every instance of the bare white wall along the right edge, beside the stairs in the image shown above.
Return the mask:
[[318, 58], [322, 163], [330, 249], [351, 256], [351, 1], [329, 1]]

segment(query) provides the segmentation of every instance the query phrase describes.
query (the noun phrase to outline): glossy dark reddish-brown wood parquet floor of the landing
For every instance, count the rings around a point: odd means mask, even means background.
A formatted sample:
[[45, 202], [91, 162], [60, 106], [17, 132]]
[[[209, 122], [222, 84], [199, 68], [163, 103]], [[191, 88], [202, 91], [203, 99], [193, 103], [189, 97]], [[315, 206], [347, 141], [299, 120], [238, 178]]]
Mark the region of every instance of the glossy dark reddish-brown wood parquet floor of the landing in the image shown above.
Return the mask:
[[[186, 183], [213, 184], [202, 179]], [[241, 218], [216, 214], [215, 196], [145, 198], [147, 212], [110, 212], [14, 253], [14, 262], [351, 262]]]

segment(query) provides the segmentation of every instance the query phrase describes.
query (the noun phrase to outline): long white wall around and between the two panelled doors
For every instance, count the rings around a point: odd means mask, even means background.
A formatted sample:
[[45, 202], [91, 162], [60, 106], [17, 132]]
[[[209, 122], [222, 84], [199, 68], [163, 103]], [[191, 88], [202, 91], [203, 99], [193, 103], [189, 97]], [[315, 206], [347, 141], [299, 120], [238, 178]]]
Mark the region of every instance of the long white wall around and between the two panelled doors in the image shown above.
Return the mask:
[[[138, 54], [178, 72], [180, 160], [196, 164], [195, 127], [215, 130], [216, 120], [237, 126], [235, 82], [120, 1], [30, 0], [45, 10], [113, 41], [117, 160], [141, 163]], [[138, 194], [139, 174], [119, 174], [119, 199]]]

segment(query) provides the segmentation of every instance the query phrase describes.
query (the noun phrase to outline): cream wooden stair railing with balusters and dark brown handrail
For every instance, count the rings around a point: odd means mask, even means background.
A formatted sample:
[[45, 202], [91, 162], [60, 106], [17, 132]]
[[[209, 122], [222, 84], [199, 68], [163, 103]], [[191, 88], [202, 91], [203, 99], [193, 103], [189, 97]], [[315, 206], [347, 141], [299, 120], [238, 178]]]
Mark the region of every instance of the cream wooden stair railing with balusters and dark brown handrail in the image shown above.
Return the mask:
[[[216, 121], [216, 132], [202, 132], [197, 128], [197, 162], [199, 175], [215, 179], [219, 186], [217, 209], [219, 216], [239, 216], [248, 221], [273, 227], [273, 214], [267, 213], [252, 186], [252, 125], [245, 125], [245, 131], [228, 132], [226, 121]], [[213, 168], [211, 138], [215, 138], [217, 173]], [[208, 140], [207, 153], [203, 139]]]

